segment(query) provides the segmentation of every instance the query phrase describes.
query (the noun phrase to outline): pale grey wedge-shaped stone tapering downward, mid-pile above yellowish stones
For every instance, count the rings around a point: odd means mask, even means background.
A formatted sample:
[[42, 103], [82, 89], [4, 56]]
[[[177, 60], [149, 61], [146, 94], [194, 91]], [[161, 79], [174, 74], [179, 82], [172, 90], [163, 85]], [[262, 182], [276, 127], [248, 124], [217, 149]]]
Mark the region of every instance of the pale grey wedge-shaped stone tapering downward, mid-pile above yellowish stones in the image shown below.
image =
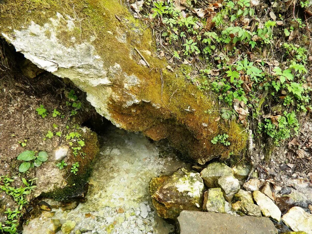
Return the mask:
[[228, 202], [232, 201], [234, 194], [240, 189], [239, 180], [233, 175], [220, 177], [216, 184], [218, 185], [217, 187], [221, 188], [223, 195]]

